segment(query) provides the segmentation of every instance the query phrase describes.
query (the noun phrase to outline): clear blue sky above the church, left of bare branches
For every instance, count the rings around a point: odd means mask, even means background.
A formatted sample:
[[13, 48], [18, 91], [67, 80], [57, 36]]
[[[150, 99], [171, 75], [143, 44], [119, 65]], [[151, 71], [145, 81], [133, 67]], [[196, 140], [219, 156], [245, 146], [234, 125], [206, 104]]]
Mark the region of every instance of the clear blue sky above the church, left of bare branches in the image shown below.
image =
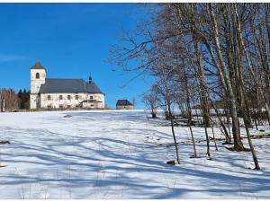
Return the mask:
[[114, 107], [118, 99], [141, 95], [153, 81], [104, 62], [122, 30], [132, 30], [145, 17], [138, 4], [0, 4], [0, 88], [30, 89], [29, 68], [40, 61], [50, 78], [89, 75]]

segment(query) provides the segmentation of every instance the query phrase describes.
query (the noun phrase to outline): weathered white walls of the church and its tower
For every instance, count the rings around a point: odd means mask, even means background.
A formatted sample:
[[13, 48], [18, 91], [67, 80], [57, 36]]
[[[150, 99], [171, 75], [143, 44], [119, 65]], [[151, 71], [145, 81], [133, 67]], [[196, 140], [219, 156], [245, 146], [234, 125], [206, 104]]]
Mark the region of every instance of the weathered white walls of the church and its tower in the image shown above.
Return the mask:
[[[37, 63], [38, 64], [38, 63]], [[40, 65], [40, 64], [39, 64]], [[40, 93], [41, 84], [46, 83], [46, 69], [31, 68], [30, 109], [104, 108], [103, 93], [54, 92]]]

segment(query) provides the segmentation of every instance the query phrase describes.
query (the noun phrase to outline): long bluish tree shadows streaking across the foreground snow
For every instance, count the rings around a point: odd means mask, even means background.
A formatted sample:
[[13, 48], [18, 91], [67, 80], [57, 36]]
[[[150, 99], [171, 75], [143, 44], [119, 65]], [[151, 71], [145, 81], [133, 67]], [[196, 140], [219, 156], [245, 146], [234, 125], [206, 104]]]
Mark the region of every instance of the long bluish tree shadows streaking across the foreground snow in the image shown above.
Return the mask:
[[[80, 112], [71, 114], [85, 116]], [[133, 119], [137, 120], [137, 116], [130, 117], [130, 120]], [[136, 142], [139, 140], [132, 138], [136, 134], [151, 135], [153, 130], [123, 128], [121, 132], [127, 134], [126, 139], [121, 139], [121, 136], [103, 137], [102, 132], [98, 136], [92, 136], [90, 132], [77, 136], [39, 129], [21, 131], [21, 134], [36, 136], [36, 144], [14, 137], [14, 143], [10, 145], [13, 152], [4, 152], [3, 162], [10, 167], [20, 165], [22, 171], [15, 174], [3, 172], [1, 178], [4, 180], [0, 181], [0, 185], [57, 182], [58, 188], [55, 189], [64, 189], [68, 182], [72, 191], [83, 188], [94, 190], [97, 187], [97, 191], [113, 191], [114, 186], [119, 186], [124, 190], [123, 198], [125, 194], [126, 198], [184, 198], [191, 193], [193, 198], [200, 198], [196, 197], [197, 194], [200, 196], [199, 193], [219, 198], [226, 193], [230, 196], [241, 196], [243, 193], [255, 195], [258, 191], [270, 189], [269, 172], [254, 171], [246, 176], [236, 176], [211, 165], [201, 164], [203, 171], [190, 164], [169, 166], [161, 158], [164, 148]], [[166, 133], [155, 133], [160, 138], [169, 138]], [[170, 152], [174, 153], [172, 149]], [[232, 167], [239, 166], [237, 162], [229, 162], [229, 158], [219, 157], [218, 160], [230, 163]], [[43, 173], [41, 177], [40, 172]], [[91, 195], [85, 194], [85, 198], [91, 198]]]

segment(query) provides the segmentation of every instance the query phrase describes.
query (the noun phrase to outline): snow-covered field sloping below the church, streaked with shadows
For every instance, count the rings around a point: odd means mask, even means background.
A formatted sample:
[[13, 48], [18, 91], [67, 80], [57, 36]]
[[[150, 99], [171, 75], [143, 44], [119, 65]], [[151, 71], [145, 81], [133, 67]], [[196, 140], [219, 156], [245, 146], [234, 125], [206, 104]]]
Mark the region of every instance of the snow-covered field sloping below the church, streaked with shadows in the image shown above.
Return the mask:
[[[147, 115], [0, 113], [0, 140], [11, 143], [0, 145], [0, 198], [270, 198], [270, 138], [253, 140], [262, 169], [255, 171], [249, 152], [230, 152], [221, 141], [219, 151], [211, 142], [211, 161], [204, 141], [196, 143], [201, 158], [189, 158], [189, 129], [176, 127], [181, 164], [170, 166], [171, 128]], [[193, 130], [196, 141], [205, 139], [202, 128]]]

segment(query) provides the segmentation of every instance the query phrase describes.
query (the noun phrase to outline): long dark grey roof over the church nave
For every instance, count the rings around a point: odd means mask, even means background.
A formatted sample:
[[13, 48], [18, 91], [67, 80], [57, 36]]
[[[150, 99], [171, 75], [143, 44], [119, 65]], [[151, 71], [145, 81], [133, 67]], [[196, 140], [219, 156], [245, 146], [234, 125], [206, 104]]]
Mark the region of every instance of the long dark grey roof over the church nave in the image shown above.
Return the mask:
[[103, 93], [94, 82], [86, 83], [83, 79], [46, 79], [40, 86], [40, 93]]

